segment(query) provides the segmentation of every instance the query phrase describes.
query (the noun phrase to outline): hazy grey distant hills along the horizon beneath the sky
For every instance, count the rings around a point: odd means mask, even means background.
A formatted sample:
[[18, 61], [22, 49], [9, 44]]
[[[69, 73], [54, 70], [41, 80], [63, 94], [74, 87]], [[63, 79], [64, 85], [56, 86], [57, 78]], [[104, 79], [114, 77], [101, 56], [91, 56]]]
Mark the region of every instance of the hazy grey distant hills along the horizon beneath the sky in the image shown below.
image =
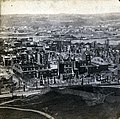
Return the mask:
[[57, 15], [2, 15], [1, 26], [99, 25], [120, 21], [120, 13], [111, 14], [57, 14]]

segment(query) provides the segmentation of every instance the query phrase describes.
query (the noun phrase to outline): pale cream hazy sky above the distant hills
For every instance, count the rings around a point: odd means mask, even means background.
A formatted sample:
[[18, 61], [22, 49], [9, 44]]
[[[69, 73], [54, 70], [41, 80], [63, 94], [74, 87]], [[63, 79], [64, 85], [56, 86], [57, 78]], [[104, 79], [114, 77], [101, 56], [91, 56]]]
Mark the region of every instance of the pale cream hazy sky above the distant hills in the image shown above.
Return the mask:
[[120, 12], [119, 0], [2, 0], [2, 14], [98, 14]]

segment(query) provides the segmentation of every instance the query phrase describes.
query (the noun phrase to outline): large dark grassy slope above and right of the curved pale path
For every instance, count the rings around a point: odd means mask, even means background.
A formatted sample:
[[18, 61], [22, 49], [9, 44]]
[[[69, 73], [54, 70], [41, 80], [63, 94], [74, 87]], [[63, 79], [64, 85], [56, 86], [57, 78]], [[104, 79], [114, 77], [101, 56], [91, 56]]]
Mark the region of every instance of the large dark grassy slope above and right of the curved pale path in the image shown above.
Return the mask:
[[89, 107], [79, 96], [49, 92], [45, 95], [30, 96], [11, 105], [44, 111], [56, 119], [118, 119], [120, 102], [99, 104]]

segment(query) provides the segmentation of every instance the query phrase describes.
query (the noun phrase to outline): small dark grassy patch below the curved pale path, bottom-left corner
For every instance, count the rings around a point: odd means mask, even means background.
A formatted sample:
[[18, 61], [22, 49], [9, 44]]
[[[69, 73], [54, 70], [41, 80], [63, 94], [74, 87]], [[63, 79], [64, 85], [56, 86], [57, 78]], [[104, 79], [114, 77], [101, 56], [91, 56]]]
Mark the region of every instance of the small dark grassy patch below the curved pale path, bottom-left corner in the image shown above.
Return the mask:
[[32, 112], [0, 109], [0, 119], [46, 119], [46, 118]]

